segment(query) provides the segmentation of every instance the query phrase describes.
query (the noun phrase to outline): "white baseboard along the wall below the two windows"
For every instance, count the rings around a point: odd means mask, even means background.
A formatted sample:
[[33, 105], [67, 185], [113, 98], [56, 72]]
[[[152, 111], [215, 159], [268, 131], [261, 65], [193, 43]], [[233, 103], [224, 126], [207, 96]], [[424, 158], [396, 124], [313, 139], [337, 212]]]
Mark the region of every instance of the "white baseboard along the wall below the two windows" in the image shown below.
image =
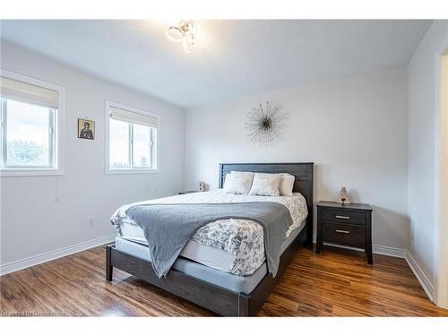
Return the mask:
[[75, 254], [77, 252], [81, 252], [84, 250], [88, 250], [89, 248], [108, 244], [112, 242], [116, 237], [116, 234], [108, 235], [105, 237], [99, 237], [96, 239], [89, 240], [84, 243], [75, 244], [73, 246], [63, 247], [57, 249], [55, 251], [46, 252], [44, 254], [34, 255], [28, 258], [24, 258], [11, 263], [4, 263], [0, 265], [0, 275], [8, 274], [13, 271], [19, 271], [27, 267], [31, 267], [37, 265], [39, 263], [47, 263], [51, 260], [55, 260], [61, 258], [65, 255]]

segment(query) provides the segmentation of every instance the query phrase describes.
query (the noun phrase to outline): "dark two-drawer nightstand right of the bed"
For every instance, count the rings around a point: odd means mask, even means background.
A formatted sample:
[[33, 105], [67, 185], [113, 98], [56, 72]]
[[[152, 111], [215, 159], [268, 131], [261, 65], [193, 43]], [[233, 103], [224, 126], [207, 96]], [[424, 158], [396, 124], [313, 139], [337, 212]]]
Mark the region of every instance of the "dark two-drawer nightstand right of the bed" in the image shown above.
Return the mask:
[[316, 243], [317, 254], [321, 252], [323, 243], [363, 248], [368, 263], [373, 264], [371, 206], [362, 203], [342, 205], [338, 202], [318, 202]]

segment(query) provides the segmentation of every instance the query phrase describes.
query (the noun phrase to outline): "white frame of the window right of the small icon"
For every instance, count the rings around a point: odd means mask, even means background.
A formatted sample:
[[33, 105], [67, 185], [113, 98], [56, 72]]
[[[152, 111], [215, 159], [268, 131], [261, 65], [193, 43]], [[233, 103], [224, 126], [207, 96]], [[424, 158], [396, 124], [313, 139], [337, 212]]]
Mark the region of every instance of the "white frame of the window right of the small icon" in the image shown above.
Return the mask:
[[[157, 119], [157, 128], [156, 128], [156, 134], [155, 134], [155, 139], [153, 139], [153, 141], [155, 142], [155, 154], [152, 154], [152, 159], [155, 160], [155, 166], [156, 168], [111, 168], [110, 167], [110, 120], [112, 119], [110, 117], [110, 108], [114, 107], [114, 108], [122, 108], [125, 109], [127, 111], [130, 112], [134, 112], [134, 113], [139, 113], [145, 116], [153, 116]], [[112, 100], [106, 100], [106, 104], [105, 104], [105, 135], [106, 135], [106, 141], [105, 141], [105, 145], [106, 145], [106, 149], [105, 149], [105, 166], [106, 166], [106, 174], [154, 174], [154, 173], [159, 173], [160, 172], [160, 115], [158, 113], [154, 113], [154, 112], [149, 112], [147, 110], [143, 110], [141, 108], [134, 108], [131, 107], [129, 105], [125, 105], [122, 103], [118, 103], [116, 101], [112, 101]], [[129, 140], [131, 141], [132, 137], [133, 137], [133, 133], [132, 133], [132, 127], [131, 127], [131, 123], [129, 123], [130, 127], [129, 127]], [[130, 151], [129, 151], [129, 164], [133, 164], [133, 153], [132, 151], [134, 151], [134, 144], [133, 146], [131, 146]]]

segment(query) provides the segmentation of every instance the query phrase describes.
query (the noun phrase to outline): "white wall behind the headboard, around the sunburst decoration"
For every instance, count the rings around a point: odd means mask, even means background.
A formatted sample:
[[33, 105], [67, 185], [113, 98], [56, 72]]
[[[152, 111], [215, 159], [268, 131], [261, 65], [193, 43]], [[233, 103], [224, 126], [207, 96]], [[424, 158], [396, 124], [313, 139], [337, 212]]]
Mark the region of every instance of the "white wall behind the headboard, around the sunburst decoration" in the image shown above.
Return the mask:
[[[408, 85], [404, 68], [278, 90], [185, 114], [185, 188], [216, 188], [220, 162], [314, 161], [314, 201], [346, 185], [371, 203], [373, 242], [406, 249]], [[246, 113], [266, 100], [289, 113], [283, 140], [263, 148], [246, 136]], [[314, 216], [315, 218], [315, 216]]]

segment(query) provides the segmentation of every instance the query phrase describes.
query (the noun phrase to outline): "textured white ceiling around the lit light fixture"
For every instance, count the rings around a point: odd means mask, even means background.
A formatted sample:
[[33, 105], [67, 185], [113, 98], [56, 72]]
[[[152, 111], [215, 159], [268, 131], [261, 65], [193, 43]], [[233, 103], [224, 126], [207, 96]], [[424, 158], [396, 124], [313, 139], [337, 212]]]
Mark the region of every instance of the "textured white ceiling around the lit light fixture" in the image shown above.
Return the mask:
[[191, 108], [406, 65], [431, 21], [200, 21], [194, 52], [157, 21], [2, 21], [2, 39]]

